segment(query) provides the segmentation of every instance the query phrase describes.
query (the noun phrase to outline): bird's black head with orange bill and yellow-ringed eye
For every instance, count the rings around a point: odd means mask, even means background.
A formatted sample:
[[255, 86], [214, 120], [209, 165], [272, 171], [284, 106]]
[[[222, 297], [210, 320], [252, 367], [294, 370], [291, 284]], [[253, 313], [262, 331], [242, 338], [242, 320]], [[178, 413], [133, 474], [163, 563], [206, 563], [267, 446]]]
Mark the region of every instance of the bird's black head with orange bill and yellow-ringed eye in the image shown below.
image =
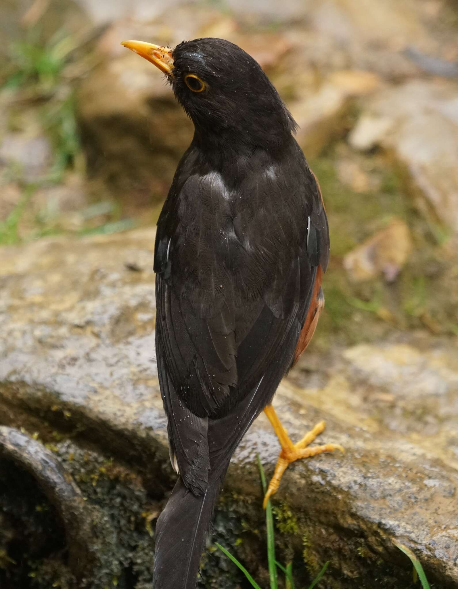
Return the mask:
[[294, 120], [273, 84], [258, 62], [230, 41], [194, 39], [174, 49], [142, 41], [122, 45], [164, 72], [198, 138], [279, 148], [291, 137]]

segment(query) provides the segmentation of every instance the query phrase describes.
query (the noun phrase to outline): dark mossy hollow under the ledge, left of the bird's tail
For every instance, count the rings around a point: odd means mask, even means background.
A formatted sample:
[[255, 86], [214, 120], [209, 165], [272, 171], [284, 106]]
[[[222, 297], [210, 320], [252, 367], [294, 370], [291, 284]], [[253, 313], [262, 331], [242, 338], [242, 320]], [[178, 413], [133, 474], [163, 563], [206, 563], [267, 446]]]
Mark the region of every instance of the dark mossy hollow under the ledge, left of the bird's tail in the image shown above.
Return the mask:
[[[138, 474], [119, 459], [81, 447], [57, 431], [44, 439], [37, 432], [33, 436], [36, 452], [46, 456], [47, 494], [37, 484], [40, 461], [26, 465], [0, 456], [2, 589], [31, 583], [40, 589], [151, 589], [151, 535], [160, 503], [148, 496]], [[75, 496], [72, 481], [81, 489]], [[72, 528], [79, 537], [68, 533]], [[78, 557], [79, 543], [89, 548], [89, 558], [82, 552]], [[68, 559], [67, 551], [77, 560]]]

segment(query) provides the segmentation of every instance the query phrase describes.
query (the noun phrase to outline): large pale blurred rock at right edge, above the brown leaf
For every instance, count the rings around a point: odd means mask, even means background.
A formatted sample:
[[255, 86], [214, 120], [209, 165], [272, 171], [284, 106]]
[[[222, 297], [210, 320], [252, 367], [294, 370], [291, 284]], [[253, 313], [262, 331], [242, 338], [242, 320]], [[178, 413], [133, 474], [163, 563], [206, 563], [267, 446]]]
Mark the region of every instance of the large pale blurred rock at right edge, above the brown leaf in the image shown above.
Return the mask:
[[380, 92], [350, 144], [393, 153], [423, 213], [458, 232], [458, 84], [414, 80]]

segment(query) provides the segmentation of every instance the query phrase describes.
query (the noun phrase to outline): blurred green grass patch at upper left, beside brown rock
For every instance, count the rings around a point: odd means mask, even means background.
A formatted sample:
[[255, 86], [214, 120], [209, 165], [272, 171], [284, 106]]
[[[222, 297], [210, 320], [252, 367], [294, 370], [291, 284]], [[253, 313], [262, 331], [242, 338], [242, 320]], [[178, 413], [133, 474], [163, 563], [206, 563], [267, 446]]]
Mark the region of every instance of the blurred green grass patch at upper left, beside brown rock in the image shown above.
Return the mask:
[[22, 41], [9, 47], [11, 59], [8, 70], [2, 72], [5, 75], [0, 82], [0, 92], [8, 94], [9, 128], [12, 131], [23, 130], [30, 124], [28, 117], [32, 114], [38, 131], [47, 135], [51, 142], [52, 160], [47, 170], [32, 184], [14, 162], [3, 171], [0, 188], [2, 184], [14, 182], [21, 188], [22, 196], [8, 217], [0, 220], [0, 246], [68, 231], [78, 236], [110, 234], [136, 225], [133, 219], [122, 218], [121, 206], [114, 201], [100, 201], [78, 211], [81, 226], [75, 224], [75, 229], [68, 229], [65, 215], [61, 215], [53, 201], [48, 201], [39, 211], [32, 206], [36, 189], [46, 190], [56, 184], [65, 184], [70, 171], [79, 176], [85, 173], [77, 104], [72, 76], [69, 75], [75, 70], [78, 44], [81, 44], [81, 39], [78, 41], [75, 36], [66, 34], [64, 29], [46, 42], [40, 39], [38, 29], [33, 29], [25, 33]]

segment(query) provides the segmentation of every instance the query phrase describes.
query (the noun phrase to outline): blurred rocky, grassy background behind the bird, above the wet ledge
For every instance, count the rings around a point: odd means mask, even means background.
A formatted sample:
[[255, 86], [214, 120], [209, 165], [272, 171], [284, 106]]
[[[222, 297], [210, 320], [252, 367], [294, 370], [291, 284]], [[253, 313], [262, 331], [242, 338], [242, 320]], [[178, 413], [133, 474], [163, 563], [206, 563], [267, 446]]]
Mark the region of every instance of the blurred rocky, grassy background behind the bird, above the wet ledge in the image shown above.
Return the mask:
[[458, 336], [453, 0], [1, 0], [0, 245], [154, 224], [192, 127], [138, 38], [223, 37], [300, 125], [331, 231], [313, 346]]

